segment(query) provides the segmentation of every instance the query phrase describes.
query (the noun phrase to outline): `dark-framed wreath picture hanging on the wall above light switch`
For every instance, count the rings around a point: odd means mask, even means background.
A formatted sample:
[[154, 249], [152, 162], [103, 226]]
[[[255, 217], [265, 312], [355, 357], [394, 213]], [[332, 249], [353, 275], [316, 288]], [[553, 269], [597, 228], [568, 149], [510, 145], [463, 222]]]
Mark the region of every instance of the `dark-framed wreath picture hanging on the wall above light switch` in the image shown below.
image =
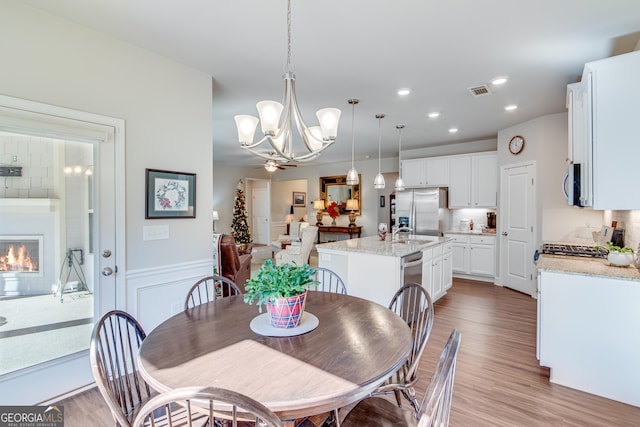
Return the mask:
[[196, 217], [196, 174], [145, 169], [145, 219]]

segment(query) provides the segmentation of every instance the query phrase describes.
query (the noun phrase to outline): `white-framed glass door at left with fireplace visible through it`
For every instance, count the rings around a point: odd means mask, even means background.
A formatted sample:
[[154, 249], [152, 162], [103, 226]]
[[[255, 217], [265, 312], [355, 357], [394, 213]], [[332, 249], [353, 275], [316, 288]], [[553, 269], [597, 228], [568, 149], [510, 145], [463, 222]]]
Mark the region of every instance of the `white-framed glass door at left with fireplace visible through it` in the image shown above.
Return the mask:
[[0, 292], [11, 296], [0, 298], [0, 366], [11, 365], [0, 373], [0, 389], [11, 390], [1, 404], [93, 382], [93, 325], [124, 304], [123, 129], [118, 119], [0, 96], [0, 144], [23, 166], [6, 182], [0, 223], [20, 229], [11, 239], [36, 236], [44, 249], [38, 274], [0, 271]]

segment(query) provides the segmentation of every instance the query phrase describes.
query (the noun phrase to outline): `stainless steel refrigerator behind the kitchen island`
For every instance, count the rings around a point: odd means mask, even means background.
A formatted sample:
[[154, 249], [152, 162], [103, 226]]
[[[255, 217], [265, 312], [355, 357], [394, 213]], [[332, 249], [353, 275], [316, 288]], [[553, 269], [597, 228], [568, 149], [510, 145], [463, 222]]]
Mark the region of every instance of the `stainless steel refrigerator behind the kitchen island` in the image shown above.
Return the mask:
[[424, 188], [396, 192], [396, 224], [414, 234], [441, 236], [443, 210], [447, 207], [446, 188]]

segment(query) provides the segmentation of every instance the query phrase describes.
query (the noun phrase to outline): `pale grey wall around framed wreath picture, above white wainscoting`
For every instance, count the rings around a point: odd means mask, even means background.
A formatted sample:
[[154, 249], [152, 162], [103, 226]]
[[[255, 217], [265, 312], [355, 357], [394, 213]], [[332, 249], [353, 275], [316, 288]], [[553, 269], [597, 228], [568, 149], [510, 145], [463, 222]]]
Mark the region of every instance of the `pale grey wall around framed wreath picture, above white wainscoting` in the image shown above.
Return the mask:
[[[17, 2], [0, 39], [0, 93], [126, 121], [128, 269], [210, 257], [211, 77]], [[145, 168], [196, 173], [197, 218], [145, 220]], [[143, 241], [151, 223], [171, 238]]]

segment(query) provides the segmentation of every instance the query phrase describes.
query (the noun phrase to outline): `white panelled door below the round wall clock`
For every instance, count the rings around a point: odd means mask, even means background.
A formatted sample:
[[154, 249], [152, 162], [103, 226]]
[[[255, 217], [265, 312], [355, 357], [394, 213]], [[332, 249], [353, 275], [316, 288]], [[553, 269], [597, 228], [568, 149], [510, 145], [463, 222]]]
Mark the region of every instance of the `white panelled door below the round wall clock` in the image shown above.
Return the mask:
[[501, 281], [534, 296], [535, 163], [503, 166], [500, 183]]

